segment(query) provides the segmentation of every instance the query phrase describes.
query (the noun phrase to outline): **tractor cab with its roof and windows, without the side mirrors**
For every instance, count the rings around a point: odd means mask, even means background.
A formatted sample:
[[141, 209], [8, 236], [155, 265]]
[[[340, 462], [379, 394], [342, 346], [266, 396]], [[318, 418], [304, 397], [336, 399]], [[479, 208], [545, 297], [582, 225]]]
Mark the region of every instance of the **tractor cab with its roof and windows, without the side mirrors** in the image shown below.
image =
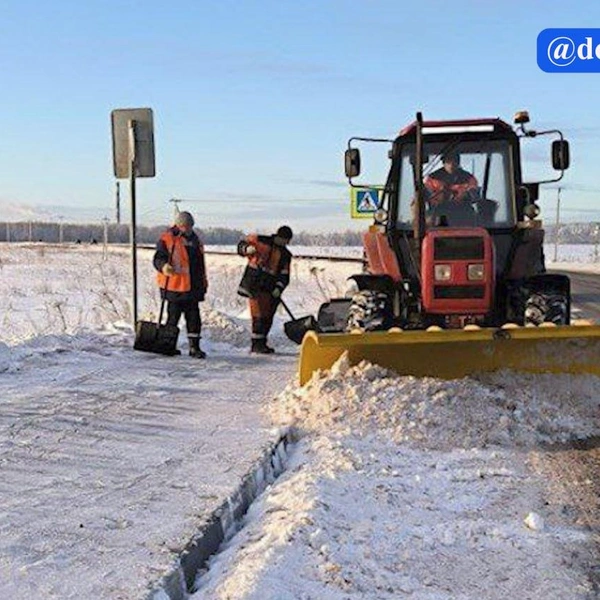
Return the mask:
[[[490, 268], [503, 272], [529, 198], [522, 188], [519, 137], [513, 128], [500, 119], [413, 123], [394, 141], [391, 157], [382, 203], [385, 235], [405, 278], [421, 279], [418, 248], [426, 238], [447, 236], [456, 228], [486, 230]], [[446, 231], [434, 233], [440, 228]], [[541, 271], [541, 245], [537, 256], [533, 269]]]

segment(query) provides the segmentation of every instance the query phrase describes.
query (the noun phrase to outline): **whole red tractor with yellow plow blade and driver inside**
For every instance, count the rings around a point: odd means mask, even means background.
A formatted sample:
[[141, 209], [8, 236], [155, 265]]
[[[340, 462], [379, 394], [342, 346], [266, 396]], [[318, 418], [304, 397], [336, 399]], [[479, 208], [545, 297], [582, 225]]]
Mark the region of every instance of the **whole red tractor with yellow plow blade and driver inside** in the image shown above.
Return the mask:
[[[415, 375], [600, 373], [600, 327], [570, 326], [569, 279], [546, 272], [537, 219], [539, 186], [562, 178], [569, 144], [528, 122], [526, 112], [515, 129], [499, 118], [423, 121], [418, 113], [389, 140], [380, 207], [363, 236], [364, 272], [352, 278], [350, 297], [321, 307], [318, 330], [303, 342], [302, 382], [344, 351], [353, 363], [367, 358]], [[556, 138], [560, 174], [525, 183], [520, 144], [542, 135]], [[382, 141], [349, 141], [350, 185], [361, 171], [353, 143]], [[585, 346], [577, 358], [552, 358], [573, 345]]]

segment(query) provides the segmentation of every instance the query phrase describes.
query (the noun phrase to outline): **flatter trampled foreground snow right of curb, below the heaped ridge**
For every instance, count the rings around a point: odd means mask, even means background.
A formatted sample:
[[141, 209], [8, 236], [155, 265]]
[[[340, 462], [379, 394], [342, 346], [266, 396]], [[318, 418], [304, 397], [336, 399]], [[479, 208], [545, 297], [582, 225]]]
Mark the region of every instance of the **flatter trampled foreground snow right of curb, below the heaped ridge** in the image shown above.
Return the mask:
[[309, 436], [192, 599], [591, 598], [588, 534], [543, 528], [539, 505], [505, 450]]

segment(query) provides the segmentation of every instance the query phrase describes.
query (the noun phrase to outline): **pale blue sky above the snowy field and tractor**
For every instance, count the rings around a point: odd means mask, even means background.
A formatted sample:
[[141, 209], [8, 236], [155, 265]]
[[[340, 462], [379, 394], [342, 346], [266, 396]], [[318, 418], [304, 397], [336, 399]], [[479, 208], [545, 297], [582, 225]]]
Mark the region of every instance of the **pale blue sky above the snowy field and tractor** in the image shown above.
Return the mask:
[[[565, 218], [600, 220], [600, 74], [536, 62], [541, 30], [586, 26], [600, 27], [600, 4], [5, 0], [3, 218], [114, 219], [110, 112], [151, 107], [157, 177], [139, 182], [140, 224], [168, 222], [176, 197], [194, 200], [180, 206], [200, 226], [362, 227], [349, 137], [392, 137], [417, 110], [510, 121], [519, 109], [571, 142]], [[542, 195], [547, 220], [555, 198]]]

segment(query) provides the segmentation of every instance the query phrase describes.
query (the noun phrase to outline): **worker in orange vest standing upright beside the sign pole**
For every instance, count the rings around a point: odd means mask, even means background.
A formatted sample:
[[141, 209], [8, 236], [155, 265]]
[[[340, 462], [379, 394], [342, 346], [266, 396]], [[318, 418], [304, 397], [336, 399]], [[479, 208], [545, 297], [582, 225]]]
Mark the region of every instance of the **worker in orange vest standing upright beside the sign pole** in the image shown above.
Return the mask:
[[186, 211], [175, 218], [156, 245], [154, 268], [161, 296], [167, 300], [167, 324], [175, 325], [183, 314], [189, 343], [189, 355], [206, 358], [200, 349], [199, 302], [208, 290], [204, 246], [194, 232], [194, 217]]

